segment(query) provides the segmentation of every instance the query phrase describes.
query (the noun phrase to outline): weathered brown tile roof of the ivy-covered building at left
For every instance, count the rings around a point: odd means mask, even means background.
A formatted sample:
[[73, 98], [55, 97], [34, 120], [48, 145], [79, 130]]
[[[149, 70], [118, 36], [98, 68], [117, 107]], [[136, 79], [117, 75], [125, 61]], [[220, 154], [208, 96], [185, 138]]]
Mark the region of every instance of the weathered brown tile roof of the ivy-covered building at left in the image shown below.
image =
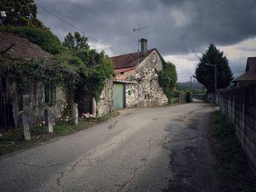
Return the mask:
[[0, 32], [0, 51], [7, 50], [12, 44], [15, 45], [7, 51], [12, 58], [24, 58], [30, 60], [31, 58], [51, 58], [53, 56], [42, 50], [38, 45], [29, 42], [25, 37], [21, 37], [18, 34]]

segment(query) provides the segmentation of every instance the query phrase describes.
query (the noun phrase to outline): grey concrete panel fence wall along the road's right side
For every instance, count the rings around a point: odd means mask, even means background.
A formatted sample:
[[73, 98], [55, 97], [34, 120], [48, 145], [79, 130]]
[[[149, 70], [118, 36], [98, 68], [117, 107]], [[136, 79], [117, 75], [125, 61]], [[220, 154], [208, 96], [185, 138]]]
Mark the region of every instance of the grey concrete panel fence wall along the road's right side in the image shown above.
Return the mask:
[[256, 82], [238, 88], [218, 90], [216, 104], [234, 123], [238, 140], [256, 175]]

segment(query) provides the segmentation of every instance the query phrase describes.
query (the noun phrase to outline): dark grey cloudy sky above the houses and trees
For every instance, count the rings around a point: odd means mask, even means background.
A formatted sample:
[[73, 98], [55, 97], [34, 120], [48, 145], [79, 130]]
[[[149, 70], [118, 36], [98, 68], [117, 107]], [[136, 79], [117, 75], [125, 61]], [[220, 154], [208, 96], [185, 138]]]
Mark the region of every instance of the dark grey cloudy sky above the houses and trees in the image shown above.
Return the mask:
[[[91, 47], [108, 55], [135, 52], [140, 31], [148, 48], [156, 47], [176, 65], [178, 81], [195, 73], [198, 57], [213, 42], [230, 62], [235, 77], [246, 58], [256, 56], [256, 0], [35, 0], [80, 33]], [[78, 31], [38, 7], [38, 18], [61, 41]]]

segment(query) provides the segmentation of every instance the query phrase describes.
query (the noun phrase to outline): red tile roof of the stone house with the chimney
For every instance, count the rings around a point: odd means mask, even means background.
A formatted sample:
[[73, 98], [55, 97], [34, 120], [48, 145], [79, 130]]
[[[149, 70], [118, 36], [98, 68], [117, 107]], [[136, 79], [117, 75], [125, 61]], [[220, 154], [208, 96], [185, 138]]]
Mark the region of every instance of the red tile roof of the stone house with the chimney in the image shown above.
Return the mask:
[[[154, 49], [148, 50], [145, 55], [139, 57], [139, 64], [150, 54]], [[110, 58], [113, 61], [115, 69], [131, 68], [138, 65], [138, 52], [118, 55]]]

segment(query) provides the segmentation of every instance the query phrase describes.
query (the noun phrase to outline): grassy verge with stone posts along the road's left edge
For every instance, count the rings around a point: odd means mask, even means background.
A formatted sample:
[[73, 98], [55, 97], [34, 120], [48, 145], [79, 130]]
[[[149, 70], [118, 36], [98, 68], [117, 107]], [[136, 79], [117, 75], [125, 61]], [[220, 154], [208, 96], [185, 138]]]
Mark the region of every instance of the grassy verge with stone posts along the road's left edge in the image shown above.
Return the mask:
[[90, 120], [81, 119], [79, 120], [78, 125], [72, 125], [70, 122], [59, 122], [53, 126], [53, 134], [45, 133], [43, 126], [35, 126], [30, 128], [31, 139], [27, 141], [20, 138], [20, 131], [18, 128], [12, 128], [8, 131], [4, 131], [0, 137], [0, 156], [37, 145], [41, 142], [47, 142], [53, 137], [75, 133], [76, 131], [97, 125], [98, 123], [114, 118], [118, 115], [118, 111], [113, 111], [108, 116], [91, 118]]

